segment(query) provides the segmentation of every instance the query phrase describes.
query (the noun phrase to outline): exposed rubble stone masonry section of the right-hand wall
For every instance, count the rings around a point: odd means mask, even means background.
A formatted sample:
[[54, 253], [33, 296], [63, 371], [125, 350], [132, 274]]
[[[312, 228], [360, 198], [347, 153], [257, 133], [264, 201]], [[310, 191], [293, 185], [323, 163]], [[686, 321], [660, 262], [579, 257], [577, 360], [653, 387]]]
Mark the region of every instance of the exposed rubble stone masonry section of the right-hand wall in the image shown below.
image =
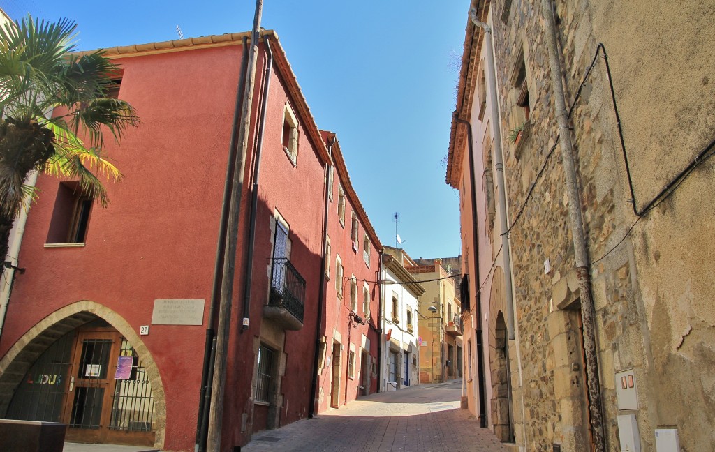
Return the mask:
[[[556, 12], [561, 19], [558, 39], [563, 50], [562, 64], [566, 62], [566, 101], [571, 104], [598, 43], [591, 32], [584, 2], [557, 1]], [[511, 256], [524, 403], [524, 426], [516, 429], [525, 429], [526, 438], [521, 446], [529, 451], [550, 451], [553, 443], [562, 444], [564, 450], [581, 450], [588, 444], [588, 416], [582, 351], [576, 340], [580, 334], [578, 285], [561, 149], [556, 142], [541, 1], [513, 0], [508, 14], [504, 13], [504, 2], [498, 2], [493, 14], [502, 134], [509, 136], [510, 128], [523, 121], [523, 108], [516, 105], [519, 90], [513, 84], [522, 61], [531, 123], [517, 144], [505, 140], [509, 218], [511, 224], [516, 221], [511, 229]], [[603, 75], [603, 71], [593, 71], [571, 117], [583, 219], [592, 259], [606, 253], [626, 227], [621, 211], [614, 208], [616, 203], [623, 202], [616, 160], [611, 148], [604, 146], [605, 140], [612, 139], [604, 129], [610, 130], [613, 123], [606, 108]], [[544, 269], [547, 259], [551, 263], [548, 274]], [[604, 265], [613, 259], [620, 259], [621, 265], [616, 270]], [[630, 326], [624, 320], [628, 317], [627, 294], [633, 293], [628, 256], [609, 255], [601, 266], [593, 268], [592, 275], [598, 287], [594, 295], [604, 418], [608, 420], [605, 434], [609, 450], [618, 450], [613, 343]], [[630, 318], [632, 321], [633, 316]]]

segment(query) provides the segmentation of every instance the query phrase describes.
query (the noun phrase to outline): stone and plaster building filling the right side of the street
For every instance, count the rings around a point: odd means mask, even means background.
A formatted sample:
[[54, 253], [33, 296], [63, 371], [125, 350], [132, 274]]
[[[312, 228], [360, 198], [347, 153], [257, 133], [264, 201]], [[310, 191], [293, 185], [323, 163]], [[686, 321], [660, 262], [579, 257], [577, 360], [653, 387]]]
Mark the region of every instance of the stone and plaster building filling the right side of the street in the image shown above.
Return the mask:
[[465, 368], [481, 369], [470, 410], [520, 450], [713, 450], [715, 7], [470, 9], [447, 170], [462, 197]]

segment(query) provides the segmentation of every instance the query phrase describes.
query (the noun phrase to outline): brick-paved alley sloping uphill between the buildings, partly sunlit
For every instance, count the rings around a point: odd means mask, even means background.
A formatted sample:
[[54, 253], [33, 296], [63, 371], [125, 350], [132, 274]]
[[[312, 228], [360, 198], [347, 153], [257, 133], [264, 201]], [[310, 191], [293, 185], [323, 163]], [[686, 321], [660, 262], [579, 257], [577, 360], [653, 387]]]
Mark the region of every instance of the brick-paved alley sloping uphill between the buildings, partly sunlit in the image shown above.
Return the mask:
[[507, 451], [469, 411], [461, 381], [375, 393], [337, 410], [262, 431], [247, 452]]

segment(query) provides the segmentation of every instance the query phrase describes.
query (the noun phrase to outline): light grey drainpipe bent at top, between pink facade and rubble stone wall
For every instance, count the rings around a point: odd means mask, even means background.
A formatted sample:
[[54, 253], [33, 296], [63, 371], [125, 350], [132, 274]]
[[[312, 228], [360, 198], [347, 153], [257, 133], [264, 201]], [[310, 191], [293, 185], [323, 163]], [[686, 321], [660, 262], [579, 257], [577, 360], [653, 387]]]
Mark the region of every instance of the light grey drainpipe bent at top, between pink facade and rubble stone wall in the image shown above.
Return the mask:
[[485, 47], [487, 48], [487, 73], [489, 79], [489, 107], [491, 124], [494, 132], [494, 169], [496, 170], [496, 184], [499, 192], [499, 221], [501, 222], [501, 241], [503, 246], [502, 258], [504, 260], [504, 286], [506, 294], [506, 330], [509, 340], [514, 340], [514, 300], [511, 288], [511, 247], [509, 246], [508, 221], [506, 219], [506, 189], [504, 188], [504, 160], [502, 157], [501, 126], [497, 111], [498, 99], [496, 94], [496, 71], [494, 68], [494, 49], [492, 46], [491, 27], [477, 19], [476, 11], [469, 11], [469, 16], [475, 26], [484, 30]]

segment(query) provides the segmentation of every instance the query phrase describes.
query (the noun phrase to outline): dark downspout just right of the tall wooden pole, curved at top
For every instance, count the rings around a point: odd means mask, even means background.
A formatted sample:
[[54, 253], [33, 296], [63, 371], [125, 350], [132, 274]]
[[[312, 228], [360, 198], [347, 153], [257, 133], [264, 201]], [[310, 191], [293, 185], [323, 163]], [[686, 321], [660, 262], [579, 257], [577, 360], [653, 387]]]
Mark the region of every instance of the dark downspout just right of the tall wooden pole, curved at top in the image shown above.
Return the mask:
[[270, 76], [273, 66], [273, 52], [270, 49], [270, 39], [268, 36], [263, 36], [263, 43], [266, 46], [266, 70], [265, 79], [263, 81], [263, 99], [261, 99], [261, 117], [260, 125], [258, 129], [258, 135], [256, 137], [256, 151], [255, 151], [255, 164], [253, 170], [253, 186], [252, 186], [252, 196], [251, 196], [251, 218], [250, 226], [248, 228], [248, 253], [246, 260], [246, 283], [244, 285], [243, 292], [243, 321], [240, 332], [243, 333], [244, 330], [248, 329], [248, 324], [250, 321], [249, 312], [251, 308], [251, 281], [253, 281], [253, 251], [255, 248], [255, 236], [256, 236], [256, 210], [258, 206], [258, 181], [261, 172], [261, 151], [263, 149], [263, 132], [265, 131], [266, 125], [266, 110], [268, 104], [268, 93], [270, 92]]

